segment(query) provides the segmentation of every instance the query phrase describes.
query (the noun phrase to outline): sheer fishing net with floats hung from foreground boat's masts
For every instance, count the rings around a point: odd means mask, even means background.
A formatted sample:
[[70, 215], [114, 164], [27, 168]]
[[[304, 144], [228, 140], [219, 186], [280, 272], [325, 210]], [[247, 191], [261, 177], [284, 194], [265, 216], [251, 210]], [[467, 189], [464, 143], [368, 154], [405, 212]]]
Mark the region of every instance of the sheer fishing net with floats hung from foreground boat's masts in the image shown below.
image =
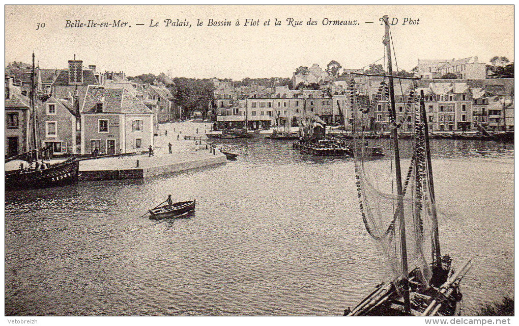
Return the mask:
[[[403, 92], [401, 94], [404, 95]], [[381, 81], [372, 102], [360, 103], [355, 81], [350, 83], [352, 116], [351, 148], [362, 221], [385, 258], [388, 276], [403, 277], [404, 255], [412, 281], [429, 286], [431, 268], [426, 256], [431, 253], [431, 223], [434, 211], [426, 162], [425, 126], [420, 114], [419, 96], [411, 87], [405, 94], [405, 110], [393, 116], [388, 83]], [[408, 127], [401, 139], [395, 161], [394, 128]], [[399, 167], [400, 163], [400, 167]], [[397, 170], [402, 179], [402, 198], [398, 196]], [[407, 275], [405, 275], [407, 276]]]

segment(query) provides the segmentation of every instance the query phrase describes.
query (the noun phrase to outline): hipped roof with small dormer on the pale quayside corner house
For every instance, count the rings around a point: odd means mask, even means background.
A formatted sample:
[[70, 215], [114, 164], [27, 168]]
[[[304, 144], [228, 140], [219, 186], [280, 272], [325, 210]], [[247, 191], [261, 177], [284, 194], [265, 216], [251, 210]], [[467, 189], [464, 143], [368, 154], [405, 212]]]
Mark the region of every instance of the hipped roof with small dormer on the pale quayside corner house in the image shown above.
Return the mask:
[[152, 113], [124, 88], [88, 87], [81, 113], [94, 113], [97, 103], [103, 103], [103, 113]]

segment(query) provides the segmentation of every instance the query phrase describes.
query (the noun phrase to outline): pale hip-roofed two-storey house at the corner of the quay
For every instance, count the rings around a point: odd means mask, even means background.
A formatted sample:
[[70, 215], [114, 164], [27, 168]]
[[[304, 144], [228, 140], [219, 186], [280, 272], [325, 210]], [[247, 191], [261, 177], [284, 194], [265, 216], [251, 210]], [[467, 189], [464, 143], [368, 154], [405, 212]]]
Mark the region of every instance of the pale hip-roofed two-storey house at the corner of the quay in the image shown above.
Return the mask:
[[153, 146], [153, 111], [125, 88], [89, 86], [81, 106], [81, 154]]

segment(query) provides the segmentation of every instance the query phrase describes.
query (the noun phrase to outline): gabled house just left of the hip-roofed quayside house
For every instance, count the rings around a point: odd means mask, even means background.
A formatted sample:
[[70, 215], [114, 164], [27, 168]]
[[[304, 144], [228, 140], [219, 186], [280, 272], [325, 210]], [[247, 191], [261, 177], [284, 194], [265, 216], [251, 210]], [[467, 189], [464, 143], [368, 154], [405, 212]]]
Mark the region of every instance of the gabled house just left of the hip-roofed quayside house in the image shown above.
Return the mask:
[[81, 124], [78, 98], [49, 97], [36, 107], [37, 130], [42, 148], [53, 155], [78, 154], [80, 152]]

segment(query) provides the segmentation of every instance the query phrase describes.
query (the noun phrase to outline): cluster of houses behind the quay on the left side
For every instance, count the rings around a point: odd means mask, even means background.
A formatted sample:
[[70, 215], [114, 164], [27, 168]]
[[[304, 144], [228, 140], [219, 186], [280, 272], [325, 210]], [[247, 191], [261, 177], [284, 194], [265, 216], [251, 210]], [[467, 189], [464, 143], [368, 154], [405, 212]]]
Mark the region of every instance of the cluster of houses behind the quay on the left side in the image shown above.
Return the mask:
[[[124, 72], [99, 73], [69, 60], [67, 69], [35, 69], [35, 121], [41, 146], [54, 155], [118, 154], [153, 146], [158, 123], [178, 119], [181, 107], [164, 84], [129, 80]], [[31, 70], [6, 68], [5, 153], [29, 146]]]

